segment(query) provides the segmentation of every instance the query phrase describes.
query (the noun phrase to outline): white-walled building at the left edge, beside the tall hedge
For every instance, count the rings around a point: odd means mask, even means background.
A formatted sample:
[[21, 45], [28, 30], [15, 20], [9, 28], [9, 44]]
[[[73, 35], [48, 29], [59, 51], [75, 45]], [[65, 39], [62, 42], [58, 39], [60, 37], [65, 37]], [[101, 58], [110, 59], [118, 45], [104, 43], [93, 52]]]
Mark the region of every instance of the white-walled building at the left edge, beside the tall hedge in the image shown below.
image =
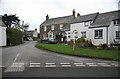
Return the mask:
[[6, 28], [2, 21], [2, 16], [0, 16], [0, 46], [6, 46]]

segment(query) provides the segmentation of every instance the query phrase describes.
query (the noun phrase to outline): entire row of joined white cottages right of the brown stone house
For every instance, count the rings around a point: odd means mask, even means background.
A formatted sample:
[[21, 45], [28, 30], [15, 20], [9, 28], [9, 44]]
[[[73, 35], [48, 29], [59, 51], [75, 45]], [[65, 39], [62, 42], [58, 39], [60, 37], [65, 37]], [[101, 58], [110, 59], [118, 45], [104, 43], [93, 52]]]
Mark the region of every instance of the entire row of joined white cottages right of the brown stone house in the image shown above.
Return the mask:
[[84, 37], [94, 45], [120, 44], [120, 10], [78, 16], [70, 25], [71, 39]]

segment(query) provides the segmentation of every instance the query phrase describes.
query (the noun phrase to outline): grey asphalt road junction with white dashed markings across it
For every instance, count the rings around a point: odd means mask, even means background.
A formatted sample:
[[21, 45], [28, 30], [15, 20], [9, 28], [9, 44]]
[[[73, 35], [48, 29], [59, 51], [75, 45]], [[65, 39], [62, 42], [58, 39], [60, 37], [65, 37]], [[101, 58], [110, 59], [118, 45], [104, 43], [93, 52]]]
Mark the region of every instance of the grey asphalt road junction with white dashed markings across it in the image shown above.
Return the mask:
[[57, 54], [38, 49], [35, 44], [36, 41], [27, 41], [2, 48], [2, 76], [118, 77], [117, 61]]

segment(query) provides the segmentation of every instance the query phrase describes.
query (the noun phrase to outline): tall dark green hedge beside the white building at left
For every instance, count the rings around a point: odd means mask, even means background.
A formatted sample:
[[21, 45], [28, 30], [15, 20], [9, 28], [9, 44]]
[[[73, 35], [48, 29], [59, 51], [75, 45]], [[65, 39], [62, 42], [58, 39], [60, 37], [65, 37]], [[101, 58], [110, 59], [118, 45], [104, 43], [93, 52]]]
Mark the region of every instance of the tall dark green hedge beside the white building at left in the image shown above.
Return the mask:
[[7, 28], [7, 45], [14, 46], [22, 43], [22, 32], [16, 28]]

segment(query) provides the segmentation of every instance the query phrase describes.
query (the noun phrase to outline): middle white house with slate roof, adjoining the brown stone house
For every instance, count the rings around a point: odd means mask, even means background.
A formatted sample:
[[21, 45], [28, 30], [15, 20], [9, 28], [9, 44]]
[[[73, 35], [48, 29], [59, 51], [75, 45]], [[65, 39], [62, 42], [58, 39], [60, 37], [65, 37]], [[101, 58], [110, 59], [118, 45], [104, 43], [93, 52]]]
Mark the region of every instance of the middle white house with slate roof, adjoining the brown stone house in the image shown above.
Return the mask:
[[96, 19], [99, 13], [93, 13], [88, 15], [77, 15], [77, 18], [74, 19], [71, 23], [70, 27], [70, 38], [71, 39], [78, 39], [80, 37], [84, 37], [85, 39], [90, 38], [89, 27]]

